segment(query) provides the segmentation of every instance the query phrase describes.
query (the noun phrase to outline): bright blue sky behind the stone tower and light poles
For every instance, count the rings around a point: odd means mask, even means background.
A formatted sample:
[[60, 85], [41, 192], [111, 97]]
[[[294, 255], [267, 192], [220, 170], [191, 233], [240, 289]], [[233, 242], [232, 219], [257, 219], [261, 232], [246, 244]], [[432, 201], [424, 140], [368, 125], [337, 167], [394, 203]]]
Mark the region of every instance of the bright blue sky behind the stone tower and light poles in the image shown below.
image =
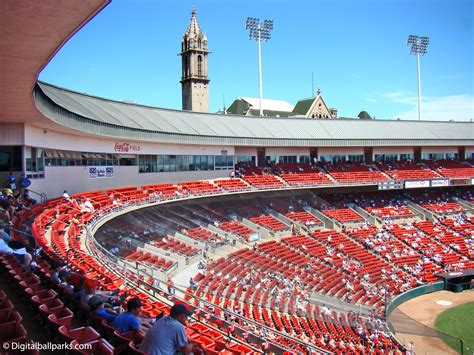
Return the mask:
[[191, 8], [212, 54], [210, 111], [258, 97], [257, 43], [247, 17], [273, 19], [262, 44], [263, 96], [296, 104], [320, 87], [339, 116], [417, 118], [416, 57], [408, 35], [428, 35], [421, 58], [423, 119], [474, 118], [472, 0], [113, 0], [51, 60], [40, 79], [92, 95], [181, 108], [181, 37]]

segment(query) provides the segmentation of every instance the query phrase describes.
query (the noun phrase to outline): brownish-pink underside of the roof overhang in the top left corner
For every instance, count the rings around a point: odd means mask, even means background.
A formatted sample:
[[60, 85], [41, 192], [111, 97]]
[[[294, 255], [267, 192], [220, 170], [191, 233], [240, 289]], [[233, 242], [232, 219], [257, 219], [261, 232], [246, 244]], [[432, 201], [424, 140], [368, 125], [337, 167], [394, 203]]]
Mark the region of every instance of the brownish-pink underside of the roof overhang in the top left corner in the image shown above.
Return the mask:
[[0, 11], [0, 122], [52, 122], [38, 113], [32, 92], [41, 70], [110, 0], [7, 0]]

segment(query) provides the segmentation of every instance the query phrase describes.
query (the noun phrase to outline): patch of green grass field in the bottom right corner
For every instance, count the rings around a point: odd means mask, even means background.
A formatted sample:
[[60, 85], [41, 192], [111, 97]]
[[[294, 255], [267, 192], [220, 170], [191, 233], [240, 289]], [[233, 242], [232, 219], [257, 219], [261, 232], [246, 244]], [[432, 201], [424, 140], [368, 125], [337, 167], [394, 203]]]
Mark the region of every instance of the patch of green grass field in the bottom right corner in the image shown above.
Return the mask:
[[[472, 354], [474, 352], [474, 302], [444, 311], [436, 318], [435, 328], [443, 333], [464, 340], [464, 354]], [[458, 353], [461, 353], [459, 341], [443, 340]]]

